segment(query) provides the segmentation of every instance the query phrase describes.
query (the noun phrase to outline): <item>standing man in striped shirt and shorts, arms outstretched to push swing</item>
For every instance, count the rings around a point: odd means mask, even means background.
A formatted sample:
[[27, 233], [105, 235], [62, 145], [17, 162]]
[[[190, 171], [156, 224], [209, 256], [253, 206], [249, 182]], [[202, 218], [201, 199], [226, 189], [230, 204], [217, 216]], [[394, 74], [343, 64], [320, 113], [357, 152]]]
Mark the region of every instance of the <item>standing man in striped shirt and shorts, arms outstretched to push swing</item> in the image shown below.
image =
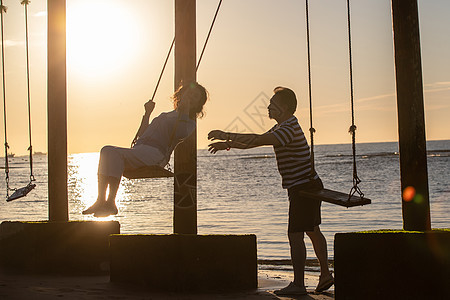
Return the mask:
[[327, 242], [320, 231], [321, 202], [304, 199], [300, 190], [323, 189], [322, 181], [312, 171], [310, 149], [294, 112], [297, 109], [295, 93], [288, 88], [277, 87], [268, 106], [269, 118], [277, 124], [264, 134], [240, 134], [213, 130], [208, 134], [210, 140], [223, 140], [209, 145], [209, 151], [230, 148], [249, 149], [272, 145], [281, 174], [283, 188], [289, 195], [288, 237], [291, 259], [294, 268], [294, 281], [287, 287], [276, 290], [277, 295], [306, 295], [305, 261], [306, 247], [304, 234], [308, 235], [320, 263], [320, 278], [315, 292], [323, 292], [334, 284], [328, 268]]

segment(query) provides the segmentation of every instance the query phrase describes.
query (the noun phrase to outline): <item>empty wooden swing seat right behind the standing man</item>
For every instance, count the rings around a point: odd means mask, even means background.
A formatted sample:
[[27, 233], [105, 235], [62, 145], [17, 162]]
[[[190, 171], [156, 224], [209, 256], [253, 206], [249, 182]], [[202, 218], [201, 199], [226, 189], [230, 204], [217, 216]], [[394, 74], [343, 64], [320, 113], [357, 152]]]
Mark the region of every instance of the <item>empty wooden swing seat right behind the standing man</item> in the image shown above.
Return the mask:
[[299, 191], [300, 195], [308, 199], [320, 200], [332, 204], [337, 204], [345, 207], [361, 206], [370, 204], [372, 201], [368, 198], [351, 196], [348, 194], [328, 189], [322, 189], [318, 191]]

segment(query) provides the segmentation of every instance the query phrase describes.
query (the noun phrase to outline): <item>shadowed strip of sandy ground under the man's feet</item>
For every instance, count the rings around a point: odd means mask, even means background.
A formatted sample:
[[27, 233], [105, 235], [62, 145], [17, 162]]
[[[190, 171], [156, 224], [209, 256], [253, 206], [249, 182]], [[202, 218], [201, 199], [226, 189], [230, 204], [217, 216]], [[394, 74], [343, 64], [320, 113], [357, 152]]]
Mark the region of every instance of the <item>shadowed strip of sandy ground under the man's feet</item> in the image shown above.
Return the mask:
[[218, 293], [162, 293], [142, 287], [112, 284], [109, 275], [101, 276], [56, 276], [56, 275], [10, 275], [0, 273], [0, 299], [334, 299], [333, 287], [324, 294], [312, 293], [318, 275], [307, 274], [306, 296], [278, 297], [275, 289], [292, 280], [292, 271], [260, 270], [258, 289], [242, 292]]

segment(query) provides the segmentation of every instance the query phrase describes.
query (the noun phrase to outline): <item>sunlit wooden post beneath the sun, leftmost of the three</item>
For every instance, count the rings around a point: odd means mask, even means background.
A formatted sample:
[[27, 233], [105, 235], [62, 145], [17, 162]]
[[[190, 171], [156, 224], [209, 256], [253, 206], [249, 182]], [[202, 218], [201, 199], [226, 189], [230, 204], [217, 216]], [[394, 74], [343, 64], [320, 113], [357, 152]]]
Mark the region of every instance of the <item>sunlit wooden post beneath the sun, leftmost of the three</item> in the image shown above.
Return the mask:
[[68, 221], [66, 0], [48, 0], [48, 207], [50, 221]]

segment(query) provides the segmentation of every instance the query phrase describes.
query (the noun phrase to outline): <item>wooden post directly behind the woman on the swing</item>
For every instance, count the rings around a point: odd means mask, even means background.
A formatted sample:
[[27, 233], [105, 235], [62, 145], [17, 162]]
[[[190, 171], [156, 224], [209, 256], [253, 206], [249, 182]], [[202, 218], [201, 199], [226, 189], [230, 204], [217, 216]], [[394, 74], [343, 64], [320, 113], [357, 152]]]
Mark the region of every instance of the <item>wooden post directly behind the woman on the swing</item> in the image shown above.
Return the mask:
[[[195, 0], [175, 0], [175, 90], [196, 80], [195, 10]], [[174, 155], [174, 233], [197, 234], [197, 131]]]

